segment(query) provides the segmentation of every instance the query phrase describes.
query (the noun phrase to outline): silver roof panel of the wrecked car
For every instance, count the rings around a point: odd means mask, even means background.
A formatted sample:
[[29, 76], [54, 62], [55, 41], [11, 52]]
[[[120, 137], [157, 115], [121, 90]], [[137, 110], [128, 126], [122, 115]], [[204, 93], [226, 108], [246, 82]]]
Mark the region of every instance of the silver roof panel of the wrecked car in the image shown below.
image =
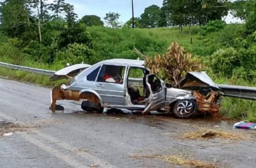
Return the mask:
[[136, 60], [136, 59], [107, 59], [104, 61], [101, 61], [100, 63], [113, 63], [113, 64], [118, 64], [120, 66], [136, 66], [136, 67], [144, 67], [144, 61], [142, 60]]

